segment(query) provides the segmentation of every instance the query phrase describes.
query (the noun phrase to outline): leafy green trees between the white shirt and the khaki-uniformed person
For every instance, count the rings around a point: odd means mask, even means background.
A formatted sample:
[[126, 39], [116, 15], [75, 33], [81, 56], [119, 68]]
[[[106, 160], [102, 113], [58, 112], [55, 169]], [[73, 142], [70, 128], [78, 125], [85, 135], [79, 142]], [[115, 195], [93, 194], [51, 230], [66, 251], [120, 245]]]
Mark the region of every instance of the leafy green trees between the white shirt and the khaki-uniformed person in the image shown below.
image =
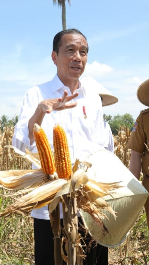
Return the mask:
[[120, 126], [127, 126], [130, 131], [133, 129], [134, 119], [129, 113], [125, 113], [124, 115], [117, 114], [113, 117], [111, 115], [103, 114], [103, 119], [108, 122], [112, 133], [115, 135], [118, 133]]

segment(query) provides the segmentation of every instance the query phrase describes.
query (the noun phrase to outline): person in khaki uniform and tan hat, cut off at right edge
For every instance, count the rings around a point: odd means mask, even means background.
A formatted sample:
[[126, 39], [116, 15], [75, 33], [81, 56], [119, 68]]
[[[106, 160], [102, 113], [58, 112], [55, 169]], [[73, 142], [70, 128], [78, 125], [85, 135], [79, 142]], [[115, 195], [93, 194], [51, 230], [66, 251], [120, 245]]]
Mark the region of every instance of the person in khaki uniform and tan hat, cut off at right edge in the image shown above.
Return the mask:
[[[142, 104], [149, 106], [149, 79], [138, 87], [137, 97]], [[127, 147], [131, 149], [129, 170], [138, 180], [142, 171], [142, 185], [149, 192], [149, 108], [141, 110]], [[149, 229], [149, 197], [144, 206]]]

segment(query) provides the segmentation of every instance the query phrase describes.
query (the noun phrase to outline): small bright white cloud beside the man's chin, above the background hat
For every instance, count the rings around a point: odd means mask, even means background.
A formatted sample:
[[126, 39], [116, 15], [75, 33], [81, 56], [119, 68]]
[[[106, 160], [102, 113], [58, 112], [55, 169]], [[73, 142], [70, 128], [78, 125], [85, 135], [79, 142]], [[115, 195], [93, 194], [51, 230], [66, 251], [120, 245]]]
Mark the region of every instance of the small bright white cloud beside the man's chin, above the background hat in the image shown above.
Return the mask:
[[111, 66], [100, 64], [97, 61], [94, 61], [91, 64], [89, 63], [86, 64], [84, 75], [90, 75], [96, 77], [111, 73], [112, 71], [113, 68]]

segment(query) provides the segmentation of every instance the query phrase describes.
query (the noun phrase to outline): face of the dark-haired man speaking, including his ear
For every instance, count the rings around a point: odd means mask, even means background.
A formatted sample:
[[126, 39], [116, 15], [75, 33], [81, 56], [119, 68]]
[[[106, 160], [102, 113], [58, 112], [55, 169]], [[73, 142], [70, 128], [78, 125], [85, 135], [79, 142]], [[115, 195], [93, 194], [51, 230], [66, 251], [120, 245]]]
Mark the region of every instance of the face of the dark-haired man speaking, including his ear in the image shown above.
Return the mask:
[[80, 34], [65, 34], [61, 38], [61, 43], [58, 55], [52, 52], [58, 77], [62, 81], [77, 80], [84, 72], [87, 62], [87, 41]]

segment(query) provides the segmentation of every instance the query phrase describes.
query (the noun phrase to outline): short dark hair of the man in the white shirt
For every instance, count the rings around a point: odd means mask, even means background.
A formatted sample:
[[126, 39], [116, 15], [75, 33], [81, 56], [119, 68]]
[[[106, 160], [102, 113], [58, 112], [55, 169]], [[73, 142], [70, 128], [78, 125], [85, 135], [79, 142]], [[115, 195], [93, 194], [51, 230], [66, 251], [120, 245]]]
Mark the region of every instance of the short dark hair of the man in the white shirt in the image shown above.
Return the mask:
[[[53, 51], [57, 53], [58, 55], [58, 52], [59, 52], [59, 48], [61, 47], [61, 38], [63, 37], [63, 35], [65, 34], [80, 34], [82, 35], [86, 41], [87, 41], [87, 38], [85, 37], [84, 34], [81, 33], [81, 31], [79, 31], [79, 29], [66, 29], [66, 30], [62, 30], [60, 32], [58, 32], [54, 39], [53, 39]], [[88, 52], [88, 43], [87, 43], [87, 52]]]

